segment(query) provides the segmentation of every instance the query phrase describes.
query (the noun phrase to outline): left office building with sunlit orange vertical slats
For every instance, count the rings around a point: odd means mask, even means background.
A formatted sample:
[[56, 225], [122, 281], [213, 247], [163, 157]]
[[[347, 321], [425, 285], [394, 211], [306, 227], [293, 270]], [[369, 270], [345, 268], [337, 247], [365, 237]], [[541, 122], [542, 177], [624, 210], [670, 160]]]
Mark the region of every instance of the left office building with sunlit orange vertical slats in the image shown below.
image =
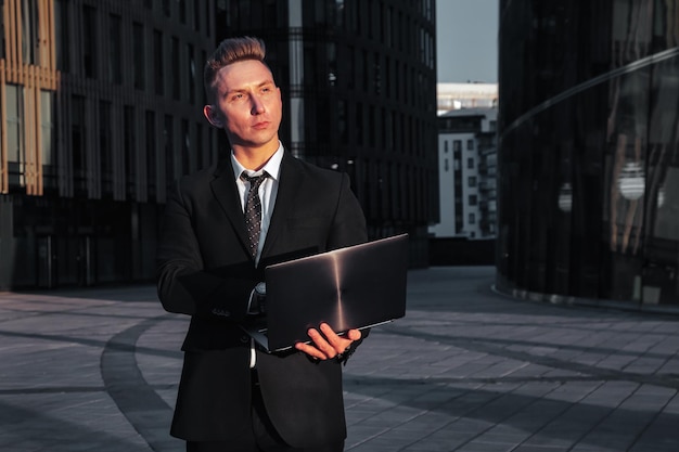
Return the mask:
[[216, 155], [214, 2], [0, 7], [0, 289], [153, 279], [168, 185]]

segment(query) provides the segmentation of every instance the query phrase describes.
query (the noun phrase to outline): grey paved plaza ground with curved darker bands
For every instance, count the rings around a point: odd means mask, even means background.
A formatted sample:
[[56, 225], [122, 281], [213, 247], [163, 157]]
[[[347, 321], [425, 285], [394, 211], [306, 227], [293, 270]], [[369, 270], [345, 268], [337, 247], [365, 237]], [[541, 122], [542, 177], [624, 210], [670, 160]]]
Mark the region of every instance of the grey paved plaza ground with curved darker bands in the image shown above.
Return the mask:
[[[492, 281], [410, 272], [407, 317], [345, 367], [347, 451], [679, 451], [679, 317]], [[0, 293], [0, 450], [183, 451], [167, 431], [185, 327], [151, 286]]]

